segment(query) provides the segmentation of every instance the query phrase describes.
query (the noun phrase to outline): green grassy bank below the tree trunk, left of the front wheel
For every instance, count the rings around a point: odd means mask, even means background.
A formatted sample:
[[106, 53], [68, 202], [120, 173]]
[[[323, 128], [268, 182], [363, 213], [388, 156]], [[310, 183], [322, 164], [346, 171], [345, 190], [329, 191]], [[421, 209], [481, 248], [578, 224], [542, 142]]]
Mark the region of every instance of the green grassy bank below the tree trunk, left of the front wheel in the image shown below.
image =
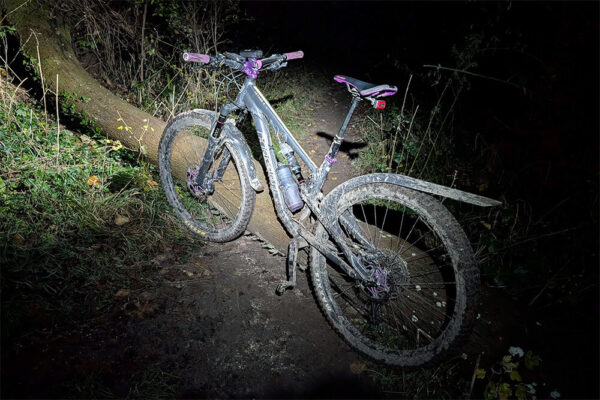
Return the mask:
[[110, 311], [120, 289], [154, 284], [157, 254], [171, 247], [186, 257], [194, 241], [154, 166], [125, 161], [135, 155], [118, 142], [59, 129], [6, 79], [0, 85], [4, 346]]

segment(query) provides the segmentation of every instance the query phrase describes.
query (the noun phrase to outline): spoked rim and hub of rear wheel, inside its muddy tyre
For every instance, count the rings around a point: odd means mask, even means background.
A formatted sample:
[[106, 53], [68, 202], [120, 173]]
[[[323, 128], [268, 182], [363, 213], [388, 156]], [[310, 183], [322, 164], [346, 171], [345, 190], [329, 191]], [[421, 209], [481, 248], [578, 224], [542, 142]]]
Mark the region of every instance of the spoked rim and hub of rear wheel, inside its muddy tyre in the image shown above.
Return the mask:
[[432, 357], [452, 339], [454, 329], [449, 328], [464, 304], [456, 297], [463, 292], [456, 279], [456, 255], [446, 249], [448, 238], [431, 228], [428, 210], [408, 209], [400, 193], [393, 199], [377, 191], [367, 197], [346, 200], [337, 216], [340, 221], [340, 215], [351, 215], [362, 236], [375, 244], [376, 250], [369, 248], [340, 222], [346, 244], [378, 279], [371, 285], [357, 283], [323, 260], [329, 283], [323, 283], [324, 289], [342, 315], [343, 333], [358, 338], [371, 355]]

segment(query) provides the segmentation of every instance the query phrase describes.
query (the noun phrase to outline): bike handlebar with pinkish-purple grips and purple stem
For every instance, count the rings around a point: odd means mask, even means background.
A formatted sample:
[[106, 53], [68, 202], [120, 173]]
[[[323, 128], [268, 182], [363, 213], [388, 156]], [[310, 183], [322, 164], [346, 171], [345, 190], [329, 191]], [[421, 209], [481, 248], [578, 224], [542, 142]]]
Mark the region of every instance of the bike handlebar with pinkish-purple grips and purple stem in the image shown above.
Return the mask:
[[[295, 60], [304, 57], [302, 50], [293, 51], [284, 54], [273, 54], [270, 57], [256, 59], [246, 59], [235, 53], [218, 54], [216, 56], [209, 56], [200, 53], [183, 53], [183, 60], [187, 62], [195, 62], [200, 64], [209, 64], [209, 67], [218, 68], [223, 64], [229, 68], [237, 71], [243, 71], [247, 75], [256, 78], [258, 70], [276, 70], [283, 68], [287, 65], [287, 60]], [[248, 62], [251, 61], [254, 73], [250, 73], [248, 70]]]

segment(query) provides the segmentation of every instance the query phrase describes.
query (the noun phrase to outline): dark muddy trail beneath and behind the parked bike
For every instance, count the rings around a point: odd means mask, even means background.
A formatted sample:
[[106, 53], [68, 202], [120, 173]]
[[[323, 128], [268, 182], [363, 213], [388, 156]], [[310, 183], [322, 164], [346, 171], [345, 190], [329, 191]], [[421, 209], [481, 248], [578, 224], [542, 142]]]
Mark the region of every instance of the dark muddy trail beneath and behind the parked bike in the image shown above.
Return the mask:
[[[342, 85], [328, 87], [331, 97], [315, 105], [310, 134], [301, 140], [317, 164], [350, 100]], [[356, 126], [350, 126], [346, 139], [325, 193], [357, 175], [351, 160], [364, 143]], [[185, 262], [176, 250], [165, 251], [153, 261], [148, 279], [154, 284], [119, 290], [110, 312], [4, 348], [3, 397], [410, 396], [386, 392], [372, 379], [369, 369], [377, 374], [380, 367], [330, 329], [306, 273], [299, 273], [294, 290], [276, 295], [285, 278], [285, 258], [273, 253], [251, 234], [226, 244], [207, 243]], [[506, 335], [499, 333], [506, 328], [498, 326], [521, 324], [514, 313], [507, 316], [510, 321], [496, 322], [497, 311], [484, 307], [459, 360], [467, 379], [477, 354], [506, 350]]]

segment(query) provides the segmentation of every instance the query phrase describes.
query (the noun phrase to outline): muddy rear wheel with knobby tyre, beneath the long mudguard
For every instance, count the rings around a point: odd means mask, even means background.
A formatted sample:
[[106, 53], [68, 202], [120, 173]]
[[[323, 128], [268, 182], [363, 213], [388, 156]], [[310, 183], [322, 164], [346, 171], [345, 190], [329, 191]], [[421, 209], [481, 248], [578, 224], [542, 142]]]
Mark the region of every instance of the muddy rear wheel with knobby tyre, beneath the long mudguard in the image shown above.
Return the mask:
[[[311, 250], [315, 294], [332, 327], [390, 365], [430, 364], [456, 350], [470, 333], [479, 291], [458, 222], [436, 199], [401, 186], [370, 182], [342, 193], [335, 224], [374, 279], [353, 279]], [[328, 239], [322, 225], [316, 235]]]

